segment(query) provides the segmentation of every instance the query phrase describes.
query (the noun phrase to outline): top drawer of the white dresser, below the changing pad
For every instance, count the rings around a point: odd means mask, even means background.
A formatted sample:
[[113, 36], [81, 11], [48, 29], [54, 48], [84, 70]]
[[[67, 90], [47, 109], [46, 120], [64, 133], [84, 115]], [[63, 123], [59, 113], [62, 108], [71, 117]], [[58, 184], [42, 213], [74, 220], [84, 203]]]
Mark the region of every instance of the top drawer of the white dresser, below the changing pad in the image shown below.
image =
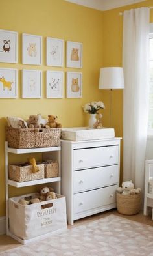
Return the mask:
[[73, 150], [74, 169], [118, 164], [119, 146], [95, 147]]

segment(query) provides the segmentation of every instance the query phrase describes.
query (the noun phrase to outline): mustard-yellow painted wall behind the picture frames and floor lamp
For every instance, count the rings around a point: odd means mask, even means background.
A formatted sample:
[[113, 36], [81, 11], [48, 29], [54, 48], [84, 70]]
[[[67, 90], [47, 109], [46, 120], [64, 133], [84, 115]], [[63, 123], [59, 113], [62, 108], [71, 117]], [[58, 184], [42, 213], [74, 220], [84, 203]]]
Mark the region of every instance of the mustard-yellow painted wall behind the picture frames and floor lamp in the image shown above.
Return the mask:
[[[102, 100], [106, 109], [103, 124], [110, 124], [110, 91], [98, 89], [99, 68], [101, 66], [122, 66], [122, 33], [123, 17], [119, 12], [130, 8], [153, 5], [152, 0], [137, 5], [116, 8], [99, 12], [91, 8], [82, 7], [63, 0], [8, 0], [1, 1], [0, 29], [18, 31], [19, 60], [18, 64], [0, 63], [0, 67], [18, 68], [18, 99], [0, 99], [0, 216], [5, 215], [5, 117], [15, 115], [27, 119], [29, 114], [41, 113], [47, 117], [48, 113], [56, 113], [58, 119], [66, 126], [84, 126], [88, 115], [83, 113], [82, 105], [91, 100]], [[2, 11], [3, 10], [3, 11]], [[150, 11], [153, 21], [153, 10]], [[21, 64], [21, 33], [43, 36], [43, 64], [30, 66]], [[50, 68], [45, 66], [45, 37], [53, 36], [65, 41], [83, 43], [83, 68]], [[65, 56], [65, 44], [64, 44]], [[65, 58], [64, 58], [65, 59]], [[21, 99], [21, 70], [43, 70], [43, 98]], [[77, 71], [83, 73], [83, 97], [81, 99], [45, 98], [45, 70]], [[112, 126], [117, 136], [123, 136], [123, 99], [122, 91], [113, 91], [112, 98]], [[40, 156], [38, 156], [40, 157]], [[26, 160], [27, 156], [24, 156]], [[20, 158], [19, 158], [20, 159]], [[14, 159], [10, 159], [14, 161]], [[23, 160], [23, 156], [21, 157]], [[122, 152], [121, 152], [122, 167]], [[121, 168], [122, 169], [122, 168]], [[32, 190], [32, 188], [31, 188]], [[27, 193], [29, 189], [10, 189], [12, 196]]]

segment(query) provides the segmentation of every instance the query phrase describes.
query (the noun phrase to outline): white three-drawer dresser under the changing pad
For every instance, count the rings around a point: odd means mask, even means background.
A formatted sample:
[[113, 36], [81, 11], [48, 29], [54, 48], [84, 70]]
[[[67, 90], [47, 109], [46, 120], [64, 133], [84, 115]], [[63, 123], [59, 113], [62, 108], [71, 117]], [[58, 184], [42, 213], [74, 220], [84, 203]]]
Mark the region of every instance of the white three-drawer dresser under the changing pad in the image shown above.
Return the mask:
[[121, 138], [61, 141], [62, 195], [67, 220], [73, 221], [116, 207]]

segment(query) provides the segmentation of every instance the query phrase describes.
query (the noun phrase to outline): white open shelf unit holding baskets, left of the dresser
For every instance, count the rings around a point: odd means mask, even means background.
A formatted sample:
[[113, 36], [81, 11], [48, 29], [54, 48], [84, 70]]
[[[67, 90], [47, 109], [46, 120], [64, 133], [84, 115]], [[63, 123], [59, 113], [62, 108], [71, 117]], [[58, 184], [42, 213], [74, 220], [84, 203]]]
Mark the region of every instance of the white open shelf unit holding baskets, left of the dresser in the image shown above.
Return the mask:
[[[52, 186], [56, 193], [60, 194], [60, 180], [61, 180], [61, 167], [60, 167], [60, 150], [61, 147], [46, 147], [46, 148], [36, 148], [36, 149], [14, 149], [8, 147], [8, 142], [5, 142], [5, 192], [6, 192], [6, 235], [11, 236], [21, 244], [27, 244], [34, 240], [38, 240], [40, 238], [45, 238], [45, 236], [53, 235], [58, 231], [54, 231], [51, 233], [47, 233], [45, 235], [37, 236], [36, 238], [31, 238], [28, 240], [23, 240], [18, 236], [13, 235], [9, 231], [9, 213], [8, 213], [8, 199], [9, 199], [9, 191], [8, 186], [14, 186], [16, 188], [23, 188], [26, 186], [34, 186], [38, 184], [47, 184], [53, 183]], [[43, 178], [41, 180], [31, 180], [27, 182], [16, 182], [14, 180], [10, 180], [8, 178], [8, 154], [29, 154], [29, 153], [42, 153], [43, 160], [51, 159], [58, 161], [58, 177], [55, 178]]]

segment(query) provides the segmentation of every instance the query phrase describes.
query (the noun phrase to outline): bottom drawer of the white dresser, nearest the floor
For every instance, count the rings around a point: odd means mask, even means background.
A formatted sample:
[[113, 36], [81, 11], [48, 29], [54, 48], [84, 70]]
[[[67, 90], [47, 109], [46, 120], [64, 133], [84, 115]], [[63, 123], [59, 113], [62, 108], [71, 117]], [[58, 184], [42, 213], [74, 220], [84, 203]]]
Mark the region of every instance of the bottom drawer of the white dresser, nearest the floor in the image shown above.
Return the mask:
[[75, 194], [74, 214], [115, 203], [116, 189], [117, 185]]

